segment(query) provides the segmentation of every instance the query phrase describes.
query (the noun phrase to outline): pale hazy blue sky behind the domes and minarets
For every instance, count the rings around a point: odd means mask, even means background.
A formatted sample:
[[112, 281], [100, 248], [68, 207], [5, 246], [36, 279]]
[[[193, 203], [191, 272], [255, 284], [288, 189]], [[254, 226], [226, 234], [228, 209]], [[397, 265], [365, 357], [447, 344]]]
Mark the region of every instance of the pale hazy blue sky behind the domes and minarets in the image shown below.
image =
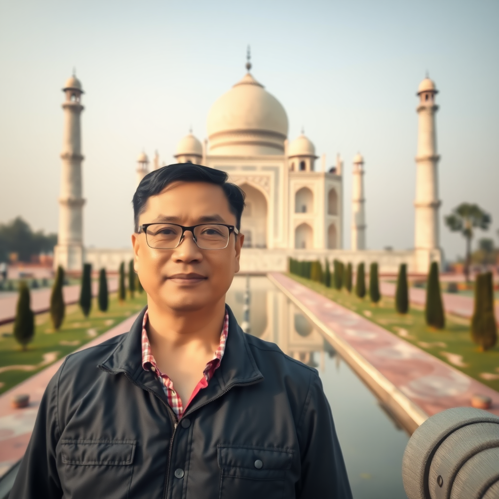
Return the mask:
[[[437, 101], [441, 241], [464, 253], [443, 216], [463, 201], [499, 227], [499, 2], [0, 0], [0, 222], [57, 230], [63, 94], [73, 67], [82, 115], [84, 240], [129, 246], [135, 160], [167, 164], [192, 125], [206, 137], [214, 101], [252, 73], [303, 126], [328, 166], [365, 157], [370, 249], [414, 244], [418, 84]], [[320, 160], [317, 162], [320, 165]]]

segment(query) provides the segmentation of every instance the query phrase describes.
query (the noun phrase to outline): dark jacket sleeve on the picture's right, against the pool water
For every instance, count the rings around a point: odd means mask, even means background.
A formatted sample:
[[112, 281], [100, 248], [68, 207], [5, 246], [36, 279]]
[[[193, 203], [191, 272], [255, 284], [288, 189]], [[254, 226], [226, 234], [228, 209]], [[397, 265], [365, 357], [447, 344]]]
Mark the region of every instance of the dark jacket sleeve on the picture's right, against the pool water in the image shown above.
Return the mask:
[[301, 478], [296, 484], [296, 498], [352, 499], [331, 408], [316, 373], [311, 373], [298, 439]]

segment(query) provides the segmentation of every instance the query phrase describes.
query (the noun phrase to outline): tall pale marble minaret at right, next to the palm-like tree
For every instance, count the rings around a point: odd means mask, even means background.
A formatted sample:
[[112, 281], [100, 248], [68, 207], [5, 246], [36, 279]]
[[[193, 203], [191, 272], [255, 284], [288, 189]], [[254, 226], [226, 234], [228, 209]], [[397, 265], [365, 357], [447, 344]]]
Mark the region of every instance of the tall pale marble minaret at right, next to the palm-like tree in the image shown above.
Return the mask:
[[420, 83], [418, 93], [418, 152], [416, 155], [415, 241], [416, 266], [428, 272], [433, 259], [440, 260], [438, 227], [438, 162], [435, 95], [438, 90], [428, 76]]

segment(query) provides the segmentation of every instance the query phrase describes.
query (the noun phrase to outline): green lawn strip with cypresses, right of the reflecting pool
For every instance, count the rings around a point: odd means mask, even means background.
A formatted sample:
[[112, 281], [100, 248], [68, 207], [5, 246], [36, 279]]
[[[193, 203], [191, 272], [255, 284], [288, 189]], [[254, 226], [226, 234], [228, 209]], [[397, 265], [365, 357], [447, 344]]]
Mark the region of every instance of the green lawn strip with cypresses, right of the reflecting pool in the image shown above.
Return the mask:
[[392, 298], [383, 297], [375, 305], [368, 296], [361, 299], [345, 289], [337, 291], [293, 274], [288, 276], [499, 391], [499, 345], [481, 352], [471, 340], [469, 320], [447, 315], [446, 328], [435, 330], [426, 325], [424, 311], [414, 306], [408, 314], [400, 315]]

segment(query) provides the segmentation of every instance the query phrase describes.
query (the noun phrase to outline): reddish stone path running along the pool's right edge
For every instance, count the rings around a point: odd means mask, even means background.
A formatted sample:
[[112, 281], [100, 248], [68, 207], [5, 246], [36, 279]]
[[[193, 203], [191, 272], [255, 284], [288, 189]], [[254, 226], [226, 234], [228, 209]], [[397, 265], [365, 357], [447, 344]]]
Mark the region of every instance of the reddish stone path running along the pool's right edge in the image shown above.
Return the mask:
[[295, 280], [270, 276], [429, 416], [470, 407], [475, 394], [491, 397], [499, 416], [499, 392]]

